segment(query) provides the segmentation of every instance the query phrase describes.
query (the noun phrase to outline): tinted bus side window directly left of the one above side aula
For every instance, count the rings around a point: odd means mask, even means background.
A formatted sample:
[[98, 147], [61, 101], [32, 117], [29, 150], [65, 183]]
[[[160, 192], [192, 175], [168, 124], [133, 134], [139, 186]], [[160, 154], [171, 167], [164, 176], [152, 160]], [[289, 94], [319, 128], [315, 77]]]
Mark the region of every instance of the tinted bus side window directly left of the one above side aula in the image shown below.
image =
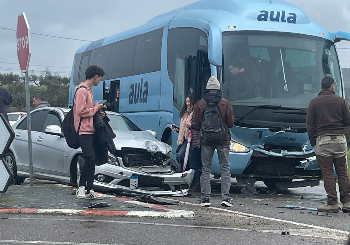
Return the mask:
[[132, 75], [137, 37], [113, 43], [108, 78], [121, 78]]

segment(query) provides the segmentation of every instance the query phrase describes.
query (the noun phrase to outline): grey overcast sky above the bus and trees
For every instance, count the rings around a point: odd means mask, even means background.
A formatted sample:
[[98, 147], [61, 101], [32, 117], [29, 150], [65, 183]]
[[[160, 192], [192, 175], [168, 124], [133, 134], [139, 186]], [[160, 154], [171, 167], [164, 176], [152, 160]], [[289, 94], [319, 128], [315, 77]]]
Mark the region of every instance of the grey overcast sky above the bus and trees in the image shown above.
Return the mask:
[[[144, 24], [156, 15], [196, 0], [0, 0], [0, 72], [18, 72], [16, 29], [25, 12], [31, 33], [98, 40]], [[268, 0], [266, 0], [268, 2]], [[349, 0], [287, 0], [327, 30], [350, 32]], [[29, 69], [69, 76], [75, 51], [86, 42], [31, 34]], [[342, 41], [338, 48], [350, 48]], [[342, 67], [350, 67], [350, 49], [339, 50]], [[15, 63], [15, 64], [6, 64]], [[36, 66], [42, 65], [42, 66]], [[61, 66], [61, 67], [53, 67]], [[63, 73], [66, 72], [66, 73]], [[39, 74], [40, 72], [36, 72]]]

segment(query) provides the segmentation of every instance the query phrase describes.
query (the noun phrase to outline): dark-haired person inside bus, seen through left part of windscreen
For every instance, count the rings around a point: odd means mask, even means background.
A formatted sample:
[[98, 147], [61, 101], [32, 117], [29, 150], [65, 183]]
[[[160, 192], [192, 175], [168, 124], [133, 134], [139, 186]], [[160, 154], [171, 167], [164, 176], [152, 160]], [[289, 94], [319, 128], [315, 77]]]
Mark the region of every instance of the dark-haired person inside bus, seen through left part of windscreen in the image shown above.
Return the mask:
[[[225, 83], [225, 96], [230, 100], [252, 99], [257, 96], [258, 91], [254, 91], [254, 84], [251, 76], [239, 59], [234, 59], [229, 63], [230, 79]], [[256, 88], [255, 88], [256, 89]]]

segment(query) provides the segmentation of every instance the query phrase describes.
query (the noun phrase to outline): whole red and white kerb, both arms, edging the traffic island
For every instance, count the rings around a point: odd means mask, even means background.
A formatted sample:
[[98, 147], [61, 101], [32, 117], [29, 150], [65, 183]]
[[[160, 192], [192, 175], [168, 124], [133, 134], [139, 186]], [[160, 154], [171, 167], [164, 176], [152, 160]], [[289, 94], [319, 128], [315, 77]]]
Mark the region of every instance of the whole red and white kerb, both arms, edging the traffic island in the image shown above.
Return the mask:
[[[76, 190], [75, 187], [64, 184], [56, 184], [62, 188]], [[124, 197], [116, 197], [98, 193], [104, 198], [111, 198], [118, 201], [140, 205], [146, 208], [158, 209], [161, 211], [124, 211], [124, 210], [102, 210], [102, 209], [33, 209], [33, 208], [0, 208], [0, 214], [55, 214], [55, 215], [102, 215], [102, 216], [126, 216], [126, 217], [151, 217], [151, 218], [181, 218], [194, 217], [193, 211], [173, 210], [168, 207], [150, 203], [135, 201]]]

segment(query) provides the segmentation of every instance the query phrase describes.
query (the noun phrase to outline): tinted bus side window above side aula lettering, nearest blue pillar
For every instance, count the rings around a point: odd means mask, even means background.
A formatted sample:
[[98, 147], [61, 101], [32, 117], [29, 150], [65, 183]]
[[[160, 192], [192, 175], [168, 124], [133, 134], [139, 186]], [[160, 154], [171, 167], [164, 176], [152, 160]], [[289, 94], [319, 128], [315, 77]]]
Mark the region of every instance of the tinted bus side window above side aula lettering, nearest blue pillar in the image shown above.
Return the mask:
[[137, 38], [132, 75], [160, 71], [163, 28]]

